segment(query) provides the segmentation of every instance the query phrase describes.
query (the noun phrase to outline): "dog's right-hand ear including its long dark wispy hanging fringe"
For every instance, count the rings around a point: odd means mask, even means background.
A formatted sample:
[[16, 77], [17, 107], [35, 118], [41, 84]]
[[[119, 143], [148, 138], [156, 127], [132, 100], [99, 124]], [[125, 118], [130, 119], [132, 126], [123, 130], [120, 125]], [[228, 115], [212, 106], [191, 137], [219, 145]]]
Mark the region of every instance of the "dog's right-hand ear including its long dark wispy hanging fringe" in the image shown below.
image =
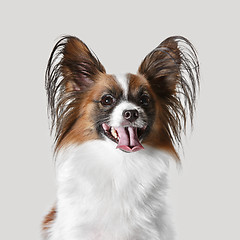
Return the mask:
[[181, 144], [181, 130], [191, 124], [199, 87], [199, 63], [193, 45], [180, 36], [167, 38], [139, 67], [161, 105], [160, 122], [173, 145]]

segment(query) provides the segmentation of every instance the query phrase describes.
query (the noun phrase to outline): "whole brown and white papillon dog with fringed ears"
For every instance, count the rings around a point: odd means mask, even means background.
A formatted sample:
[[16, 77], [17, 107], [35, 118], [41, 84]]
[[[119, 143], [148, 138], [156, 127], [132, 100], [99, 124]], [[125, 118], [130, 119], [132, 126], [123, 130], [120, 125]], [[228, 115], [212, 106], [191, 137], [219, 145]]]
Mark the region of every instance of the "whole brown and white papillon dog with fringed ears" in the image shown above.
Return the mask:
[[196, 50], [169, 37], [137, 74], [107, 74], [77, 37], [57, 42], [46, 70], [57, 200], [48, 240], [173, 240], [169, 159], [179, 162], [199, 89]]

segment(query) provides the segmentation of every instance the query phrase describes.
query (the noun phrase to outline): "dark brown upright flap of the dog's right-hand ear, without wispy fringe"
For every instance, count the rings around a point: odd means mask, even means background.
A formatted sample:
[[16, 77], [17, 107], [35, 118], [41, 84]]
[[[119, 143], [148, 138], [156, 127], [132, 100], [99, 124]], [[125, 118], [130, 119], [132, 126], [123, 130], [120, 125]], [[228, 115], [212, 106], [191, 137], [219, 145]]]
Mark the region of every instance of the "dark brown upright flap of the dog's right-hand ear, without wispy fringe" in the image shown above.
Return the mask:
[[176, 91], [180, 77], [181, 54], [175, 37], [170, 37], [150, 52], [139, 67], [158, 96]]

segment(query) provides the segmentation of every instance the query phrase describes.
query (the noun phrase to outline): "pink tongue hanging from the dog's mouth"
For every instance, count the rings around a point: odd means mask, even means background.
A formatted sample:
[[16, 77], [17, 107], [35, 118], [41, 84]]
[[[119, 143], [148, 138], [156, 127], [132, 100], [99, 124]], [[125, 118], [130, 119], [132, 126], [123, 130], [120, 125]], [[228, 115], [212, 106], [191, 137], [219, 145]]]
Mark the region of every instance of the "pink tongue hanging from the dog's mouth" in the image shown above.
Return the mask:
[[117, 148], [124, 150], [125, 152], [136, 152], [144, 147], [139, 142], [137, 136], [137, 128], [133, 127], [118, 127], [115, 128], [118, 132], [119, 142]]

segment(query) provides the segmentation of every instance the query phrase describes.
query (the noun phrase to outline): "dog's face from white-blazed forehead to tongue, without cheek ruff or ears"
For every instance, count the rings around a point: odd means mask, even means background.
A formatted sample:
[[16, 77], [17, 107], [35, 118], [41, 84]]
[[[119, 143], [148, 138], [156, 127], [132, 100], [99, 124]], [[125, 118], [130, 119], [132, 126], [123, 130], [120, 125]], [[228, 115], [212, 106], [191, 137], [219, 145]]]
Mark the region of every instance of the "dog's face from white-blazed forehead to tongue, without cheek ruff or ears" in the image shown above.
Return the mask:
[[155, 118], [155, 99], [147, 80], [140, 75], [105, 75], [93, 87], [94, 125], [117, 148], [134, 152], [143, 149]]

